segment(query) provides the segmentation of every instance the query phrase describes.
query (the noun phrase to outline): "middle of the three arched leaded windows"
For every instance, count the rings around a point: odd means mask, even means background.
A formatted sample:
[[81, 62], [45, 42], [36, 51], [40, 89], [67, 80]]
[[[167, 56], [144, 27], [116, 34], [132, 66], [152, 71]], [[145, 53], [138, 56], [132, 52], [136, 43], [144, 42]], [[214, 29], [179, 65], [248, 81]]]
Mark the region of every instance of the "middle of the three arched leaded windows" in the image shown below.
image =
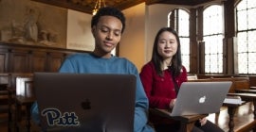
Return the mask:
[[212, 5], [203, 12], [203, 41], [205, 41], [205, 73], [223, 73], [223, 7]]

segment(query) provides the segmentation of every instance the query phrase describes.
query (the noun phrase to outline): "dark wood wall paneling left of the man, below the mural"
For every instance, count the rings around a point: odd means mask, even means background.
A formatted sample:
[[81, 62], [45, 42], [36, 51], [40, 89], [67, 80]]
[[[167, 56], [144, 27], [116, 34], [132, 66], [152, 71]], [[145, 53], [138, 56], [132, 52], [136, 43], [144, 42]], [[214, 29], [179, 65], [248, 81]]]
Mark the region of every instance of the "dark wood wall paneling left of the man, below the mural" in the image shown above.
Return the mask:
[[0, 73], [57, 72], [66, 56], [82, 52], [0, 42]]

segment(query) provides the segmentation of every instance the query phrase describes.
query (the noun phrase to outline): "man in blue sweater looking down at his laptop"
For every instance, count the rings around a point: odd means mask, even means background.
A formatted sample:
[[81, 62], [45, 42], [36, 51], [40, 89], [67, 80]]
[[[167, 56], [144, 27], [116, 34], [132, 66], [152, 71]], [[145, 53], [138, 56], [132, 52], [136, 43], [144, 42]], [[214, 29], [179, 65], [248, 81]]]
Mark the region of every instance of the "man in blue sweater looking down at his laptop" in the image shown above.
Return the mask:
[[[118, 58], [111, 51], [118, 45], [125, 28], [125, 17], [117, 8], [101, 8], [91, 21], [95, 38], [92, 53], [72, 55], [64, 60], [60, 73], [79, 74], [135, 74], [137, 76], [134, 132], [154, 131], [148, 123], [148, 99], [143, 90], [137, 67], [126, 58]], [[121, 88], [120, 88], [121, 89]], [[39, 123], [38, 107], [32, 107], [32, 118]], [[124, 119], [125, 120], [125, 119]]]

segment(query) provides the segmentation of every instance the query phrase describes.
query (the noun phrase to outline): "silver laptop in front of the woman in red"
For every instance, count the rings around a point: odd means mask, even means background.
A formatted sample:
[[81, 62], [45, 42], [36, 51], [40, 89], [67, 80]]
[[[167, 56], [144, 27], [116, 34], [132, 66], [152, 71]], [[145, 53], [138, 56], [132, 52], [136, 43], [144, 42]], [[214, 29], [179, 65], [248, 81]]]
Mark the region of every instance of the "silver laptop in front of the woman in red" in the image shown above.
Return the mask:
[[231, 84], [231, 81], [182, 83], [171, 116], [209, 114], [219, 111]]

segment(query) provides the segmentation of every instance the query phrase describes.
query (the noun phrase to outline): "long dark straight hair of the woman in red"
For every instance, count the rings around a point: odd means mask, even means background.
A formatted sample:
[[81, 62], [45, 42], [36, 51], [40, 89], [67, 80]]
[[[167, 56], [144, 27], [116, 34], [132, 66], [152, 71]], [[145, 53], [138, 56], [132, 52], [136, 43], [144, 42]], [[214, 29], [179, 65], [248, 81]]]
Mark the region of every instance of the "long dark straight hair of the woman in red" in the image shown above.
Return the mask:
[[174, 34], [176, 41], [177, 41], [177, 52], [174, 55], [174, 57], [172, 58], [172, 66], [170, 67], [171, 70], [171, 74], [176, 77], [180, 74], [180, 71], [182, 69], [182, 60], [181, 60], [181, 51], [180, 51], [180, 41], [179, 41], [179, 37], [176, 33], [176, 31], [172, 28], [172, 27], [162, 27], [156, 34], [155, 36], [155, 41], [154, 41], [154, 47], [153, 47], [153, 53], [152, 53], [152, 61], [155, 65], [155, 71], [157, 74], [159, 75], [163, 75], [163, 71], [161, 69], [161, 63], [163, 61], [163, 58], [159, 55], [159, 53], [157, 52], [157, 43], [159, 40], [159, 36], [165, 32], [171, 32]]

